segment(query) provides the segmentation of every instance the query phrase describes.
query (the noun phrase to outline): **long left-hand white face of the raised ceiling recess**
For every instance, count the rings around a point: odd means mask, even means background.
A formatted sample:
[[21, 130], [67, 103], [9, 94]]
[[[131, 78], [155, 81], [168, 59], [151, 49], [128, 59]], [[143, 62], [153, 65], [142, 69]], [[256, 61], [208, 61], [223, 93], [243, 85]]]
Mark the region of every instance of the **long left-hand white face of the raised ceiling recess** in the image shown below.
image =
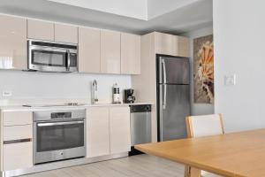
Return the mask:
[[135, 19], [148, 19], [147, 0], [49, 0], [62, 4], [84, 7], [100, 12], [109, 12]]

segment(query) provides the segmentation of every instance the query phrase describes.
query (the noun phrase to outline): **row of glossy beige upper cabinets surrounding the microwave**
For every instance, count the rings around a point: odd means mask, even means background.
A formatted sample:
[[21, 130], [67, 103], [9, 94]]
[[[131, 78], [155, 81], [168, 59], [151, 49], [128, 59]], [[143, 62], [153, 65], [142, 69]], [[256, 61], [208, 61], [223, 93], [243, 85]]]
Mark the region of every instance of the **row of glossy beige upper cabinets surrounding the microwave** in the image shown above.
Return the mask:
[[[27, 39], [33, 39], [78, 43], [79, 73], [140, 74], [140, 35], [5, 15], [0, 23], [0, 69], [27, 70]], [[171, 45], [164, 45], [169, 41], [164, 36], [157, 33], [158, 53]]]

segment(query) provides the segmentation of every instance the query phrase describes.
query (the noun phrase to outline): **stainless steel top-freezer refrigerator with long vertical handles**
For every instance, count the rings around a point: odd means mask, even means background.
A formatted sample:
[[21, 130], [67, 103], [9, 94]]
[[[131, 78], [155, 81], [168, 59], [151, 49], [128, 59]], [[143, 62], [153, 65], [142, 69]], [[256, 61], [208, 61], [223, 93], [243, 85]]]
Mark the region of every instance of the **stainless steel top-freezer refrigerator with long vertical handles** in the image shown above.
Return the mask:
[[190, 115], [190, 69], [188, 58], [156, 56], [158, 141], [186, 137]]

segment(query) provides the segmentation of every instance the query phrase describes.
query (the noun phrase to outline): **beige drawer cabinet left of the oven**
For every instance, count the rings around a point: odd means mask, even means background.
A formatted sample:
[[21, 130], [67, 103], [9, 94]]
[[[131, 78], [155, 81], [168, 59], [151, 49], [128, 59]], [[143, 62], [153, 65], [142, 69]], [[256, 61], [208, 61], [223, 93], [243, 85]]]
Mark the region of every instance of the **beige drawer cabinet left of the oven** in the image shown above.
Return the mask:
[[33, 113], [3, 112], [2, 171], [33, 166]]

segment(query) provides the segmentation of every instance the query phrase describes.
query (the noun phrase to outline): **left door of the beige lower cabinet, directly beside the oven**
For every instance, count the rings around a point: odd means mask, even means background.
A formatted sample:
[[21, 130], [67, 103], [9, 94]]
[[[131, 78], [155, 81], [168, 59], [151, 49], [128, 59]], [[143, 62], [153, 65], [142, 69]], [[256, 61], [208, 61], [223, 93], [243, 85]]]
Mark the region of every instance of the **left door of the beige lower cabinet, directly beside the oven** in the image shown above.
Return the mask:
[[87, 157], [110, 154], [109, 107], [87, 109]]

